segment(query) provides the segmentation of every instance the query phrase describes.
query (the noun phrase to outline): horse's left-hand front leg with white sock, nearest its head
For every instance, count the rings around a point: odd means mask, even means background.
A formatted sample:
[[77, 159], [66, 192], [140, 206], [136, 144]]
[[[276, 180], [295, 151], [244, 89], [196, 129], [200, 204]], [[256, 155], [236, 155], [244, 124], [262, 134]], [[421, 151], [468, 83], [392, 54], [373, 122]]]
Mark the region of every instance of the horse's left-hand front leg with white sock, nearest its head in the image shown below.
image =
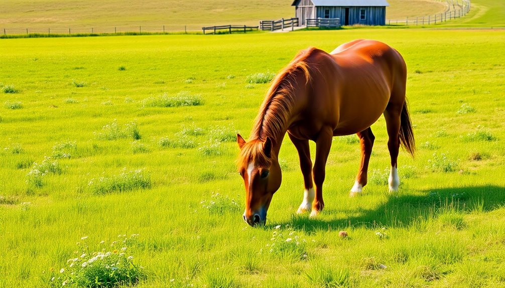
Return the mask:
[[301, 174], [304, 175], [304, 200], [298, 207], [298, 214], [304, 213], [311, 210], [312, 201], [314, 201], [314, 186], [312, 183], [312, 161], [311, 161], [311, 150], [309, 148], [309, 140], [297, 139], [291, 134], [289, 134], [289, 139], [293, 142], [294, 147], [298, 151], [298, 157], [300, 158], [300, 169]]

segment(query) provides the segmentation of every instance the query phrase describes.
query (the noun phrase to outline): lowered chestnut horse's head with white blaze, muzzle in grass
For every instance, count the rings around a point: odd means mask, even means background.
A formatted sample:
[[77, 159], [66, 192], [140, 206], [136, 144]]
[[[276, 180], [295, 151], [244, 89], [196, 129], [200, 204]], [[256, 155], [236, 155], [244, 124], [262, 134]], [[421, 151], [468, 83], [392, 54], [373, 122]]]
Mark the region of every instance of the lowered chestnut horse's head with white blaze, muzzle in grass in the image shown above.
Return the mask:
[[281, 186], [279, 161], [270, 137], [265, 141], [255, 139], [246, 142], [237, 134], [237, 143], [240, 148], [238, 171], [245, 185], [244, 221], [250, 226], [263, 225], [272, 196]]

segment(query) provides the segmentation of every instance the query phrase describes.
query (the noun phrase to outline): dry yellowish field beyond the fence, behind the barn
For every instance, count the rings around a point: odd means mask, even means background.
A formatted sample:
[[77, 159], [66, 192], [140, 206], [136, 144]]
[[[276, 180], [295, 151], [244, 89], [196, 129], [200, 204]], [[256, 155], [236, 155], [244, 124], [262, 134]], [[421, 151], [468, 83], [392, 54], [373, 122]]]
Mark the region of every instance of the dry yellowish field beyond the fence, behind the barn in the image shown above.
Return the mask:
[[[247, 24], [294, 16], [291, 0], [237, 1], [7, 1], [0, 3], [0, 28], [44, 29], [167, 26], [190, 30], [202, 26]], [[387, 19], [433, 15], [444, 11], [441, 2], [428, 0], [390, 0]], [[76, 13], [79, 11], [79, 13]], [[182, 29], [184, 30], [184, 29]], [[77, 31], [77, 30], [76, 30]], [[86, 30], [87, 31], [87, 30]]]

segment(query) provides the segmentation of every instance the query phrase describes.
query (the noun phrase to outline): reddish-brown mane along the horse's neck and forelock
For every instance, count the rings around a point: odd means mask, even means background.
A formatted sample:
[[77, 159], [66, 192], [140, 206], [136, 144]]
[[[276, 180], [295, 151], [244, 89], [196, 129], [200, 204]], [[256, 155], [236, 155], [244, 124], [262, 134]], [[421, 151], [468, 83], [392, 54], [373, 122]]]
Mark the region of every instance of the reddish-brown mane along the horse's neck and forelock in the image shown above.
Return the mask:
[[316, 50], [311, 47], [300, 51], [272, 80], [260, 112], [256, 116], [249, 141], [240, 152], [237, 163], [239, 167], [240, 165], [246, 167], [251, 161], [260, 166], [270, 166], [271, 160], [263, 152], [263, 142], [267, 137], [275, 141], [275, 137], [284, 132], [284, 126], [294, 106], [295, 72], [301, 71], [306, 84], [312, 81], [307, 59]]

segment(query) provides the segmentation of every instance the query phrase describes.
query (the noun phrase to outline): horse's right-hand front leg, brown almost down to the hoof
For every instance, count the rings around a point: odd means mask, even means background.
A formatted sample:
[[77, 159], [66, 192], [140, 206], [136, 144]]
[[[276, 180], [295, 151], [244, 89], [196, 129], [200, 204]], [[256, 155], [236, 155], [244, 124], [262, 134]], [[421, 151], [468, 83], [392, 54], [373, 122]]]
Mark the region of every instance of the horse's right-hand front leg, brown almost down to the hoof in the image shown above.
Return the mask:
[[312, 173], [314, 175], [314, 184], [316, 185], [316, 197], [312, 202], [311, 217], [317, 216], [324, 208], [323, 201], [323, 182], [325, 177], [326, 161], [330, 154], [331, 141], [333, 139], [333, 129], [325, 126], [316, 139], [316, 161]]

